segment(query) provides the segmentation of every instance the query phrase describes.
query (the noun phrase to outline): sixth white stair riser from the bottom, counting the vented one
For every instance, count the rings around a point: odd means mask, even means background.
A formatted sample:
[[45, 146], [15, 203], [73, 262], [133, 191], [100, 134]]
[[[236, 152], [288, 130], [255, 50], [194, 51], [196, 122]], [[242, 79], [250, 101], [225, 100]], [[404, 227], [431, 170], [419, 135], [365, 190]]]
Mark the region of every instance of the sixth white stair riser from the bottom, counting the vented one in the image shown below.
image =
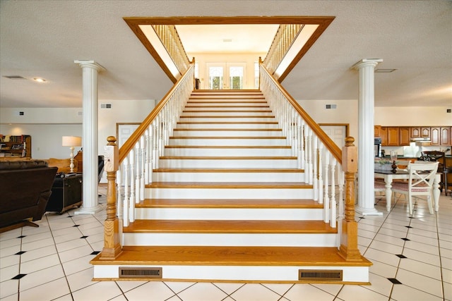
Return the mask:
[[297, 168], [297, 159], [160, 159], [160, 168]]

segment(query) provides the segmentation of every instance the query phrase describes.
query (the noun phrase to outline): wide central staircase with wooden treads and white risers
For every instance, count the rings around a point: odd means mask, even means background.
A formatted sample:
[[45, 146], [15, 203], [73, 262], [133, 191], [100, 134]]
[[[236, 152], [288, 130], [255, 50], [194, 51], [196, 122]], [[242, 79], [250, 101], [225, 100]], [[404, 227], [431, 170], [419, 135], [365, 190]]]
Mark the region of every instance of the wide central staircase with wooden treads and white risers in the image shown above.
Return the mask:
[[260, 91], [195, 90], [168, 141], [94, 280], [369, 282]]

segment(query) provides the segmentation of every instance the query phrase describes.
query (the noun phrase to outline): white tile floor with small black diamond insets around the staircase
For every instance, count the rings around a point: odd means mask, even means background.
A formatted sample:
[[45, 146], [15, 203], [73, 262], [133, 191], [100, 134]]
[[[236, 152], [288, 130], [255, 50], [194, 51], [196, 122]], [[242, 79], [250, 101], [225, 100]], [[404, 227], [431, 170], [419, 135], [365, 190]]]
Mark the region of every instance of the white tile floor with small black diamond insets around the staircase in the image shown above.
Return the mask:
[[356, 216], [359, 250], [374, 263], [371, 285], [93, 282], [89, 261], [102, 250], [105, 210], [71, 210], [0, 234], [0, 300], [452, 300], [452, 197], [441, 194], [434, 215], [425, 202], [413, 216], [403, 199], [389, 214], [385, 206], [377, 199], [383, 216]]

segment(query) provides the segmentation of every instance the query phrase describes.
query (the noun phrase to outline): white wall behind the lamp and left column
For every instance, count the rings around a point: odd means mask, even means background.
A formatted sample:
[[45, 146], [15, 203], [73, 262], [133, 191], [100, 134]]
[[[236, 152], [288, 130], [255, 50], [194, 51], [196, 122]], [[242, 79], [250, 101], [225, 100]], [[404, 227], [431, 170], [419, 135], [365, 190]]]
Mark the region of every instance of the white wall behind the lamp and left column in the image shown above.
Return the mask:
[[[116, 136], [116, 123], [139, 123], [155, 106], [154, 100], [100, 100], [100, 104], [112, 104], [112, 109], [98, 109], [97, 140], [98, 153], [103, 154], [108, 136]], [[61, 146], [61, 137], [83, 133], [81, 108], [8, 109], [2, 108], [0, 134], [31, 135], [32, 158], [69, 158], [69, 148]], [[18, 116], [17, 111], [23, 111]], [[66, 116], [66, 118], [64, 118]], [[76, 147], [78, 152], [80, 147]]]

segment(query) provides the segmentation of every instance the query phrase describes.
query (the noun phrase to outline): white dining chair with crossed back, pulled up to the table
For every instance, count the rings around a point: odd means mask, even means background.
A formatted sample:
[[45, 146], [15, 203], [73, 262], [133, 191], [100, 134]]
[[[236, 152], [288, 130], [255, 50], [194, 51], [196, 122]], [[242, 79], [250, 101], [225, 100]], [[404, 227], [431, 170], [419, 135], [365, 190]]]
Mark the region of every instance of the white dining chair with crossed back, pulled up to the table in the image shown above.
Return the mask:
[[438, 162], [416, 161], [415, 163], [410, 163], [407, 169], [409, 173], [408, 181], [406, 183], [393, 183], [391, 188], [392, 192], [397, 192], [407, 197], [410, 215], [413, 210], [412, 199], [414, 197], [419, 199], [420, 196], [427, 197], [429, 212], [433, 214], [432, 187], [436, 171], [438, 170]]

